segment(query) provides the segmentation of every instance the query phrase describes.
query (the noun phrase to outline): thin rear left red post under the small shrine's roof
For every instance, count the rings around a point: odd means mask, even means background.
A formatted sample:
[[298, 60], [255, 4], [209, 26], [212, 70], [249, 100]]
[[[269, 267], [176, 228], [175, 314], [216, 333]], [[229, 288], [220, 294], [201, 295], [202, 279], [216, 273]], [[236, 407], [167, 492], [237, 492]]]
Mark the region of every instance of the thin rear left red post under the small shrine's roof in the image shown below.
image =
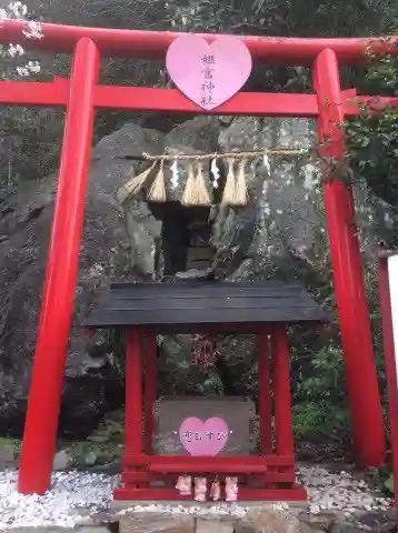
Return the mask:
[[153, 404], [156, 402], [157, 385], [157, 340], [153, 331], [148, 331], [146, 335], [146, 389], [145, 389], [145, 413], [146, 413], [146, 452], [152, 453], [153, 439]]

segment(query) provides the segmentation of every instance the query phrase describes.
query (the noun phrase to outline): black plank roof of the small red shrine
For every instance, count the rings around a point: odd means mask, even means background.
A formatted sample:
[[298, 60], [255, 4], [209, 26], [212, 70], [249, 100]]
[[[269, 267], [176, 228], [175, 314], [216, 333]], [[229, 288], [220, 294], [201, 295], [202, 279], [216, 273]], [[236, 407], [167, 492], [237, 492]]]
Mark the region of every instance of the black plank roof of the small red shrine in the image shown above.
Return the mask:
[[327, 314], [301, 284], [199, 281], [112, 283], [83, 325], [148, 325], [159, 332], [182, 332], [181, 325], [185, 331], [199, 324], [327, 321]]

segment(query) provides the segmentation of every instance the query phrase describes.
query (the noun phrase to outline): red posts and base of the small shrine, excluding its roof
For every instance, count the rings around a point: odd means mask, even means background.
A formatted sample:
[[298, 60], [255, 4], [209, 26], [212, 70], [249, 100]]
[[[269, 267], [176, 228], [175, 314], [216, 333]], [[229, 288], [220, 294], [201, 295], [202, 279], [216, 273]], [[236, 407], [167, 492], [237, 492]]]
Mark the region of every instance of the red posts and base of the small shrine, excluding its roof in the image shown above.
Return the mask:
[[[189, 500], [175, 489], [182, 474], [239, 479], [239, 500], [305, 501], [305, 489], [296, 483], [293, 436], [290, 409], [288, 333], [285, 325], [255, 329], [258, 338], [258, 385], [261, 453], [246, 456], [152, 455], [152, 410], [156, 400], [156, 332], [131, 328], [126, 340], [126, 445], [121, 486], [116, 500]], [[269, 348], [269, 339], [270, 345]], [[145, 344], [145, 350], [142, 346]], [[272, 379], [269, 372], [269, 352]], [[142, 423], [142, 364], [145, 372], [145, 413]], [[148, 361], [150, 363], [148, 364]], [[273, 389], [275, 432], [270, 399]], [[150, 433], [149, 433], [150, 428]], [[275, 434], [273, 434], [275, 433]], [[143, 434], [146, 440], [143, 441]], [[275, 446], [272, 442], [275, 441]], [[151, 485], [156, 482], [155, 485]], [[159, 486], [160, 485], [160, 486]]]

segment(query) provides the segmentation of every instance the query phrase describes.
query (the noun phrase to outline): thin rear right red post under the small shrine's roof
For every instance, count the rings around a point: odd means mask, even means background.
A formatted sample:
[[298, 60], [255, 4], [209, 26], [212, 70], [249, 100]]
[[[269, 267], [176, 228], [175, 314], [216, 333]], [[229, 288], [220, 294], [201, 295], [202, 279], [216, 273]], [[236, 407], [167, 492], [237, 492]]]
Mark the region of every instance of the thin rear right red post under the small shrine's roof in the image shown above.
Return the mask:
[[269, 375], [269, 342], [268, 332], [259, 330], [257, 333], [258, 348], [258, 412], [260, 418], [261, 453], [272, 453], [272, 418], [271, 418], [271, 388]]

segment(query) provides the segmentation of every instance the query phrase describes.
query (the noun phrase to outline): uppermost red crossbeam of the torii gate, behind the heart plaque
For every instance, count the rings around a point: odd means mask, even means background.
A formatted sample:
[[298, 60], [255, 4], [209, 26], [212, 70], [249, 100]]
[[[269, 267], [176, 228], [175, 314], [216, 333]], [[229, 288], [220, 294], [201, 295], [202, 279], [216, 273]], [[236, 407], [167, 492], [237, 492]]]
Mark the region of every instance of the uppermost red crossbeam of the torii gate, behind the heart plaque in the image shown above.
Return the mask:
[[[108, 28], [84, 28], [76, 26], [42, 24], [46, 39], [27, 39], [22, 30], [26, 22], [6, 20], [1, 22], [0, 43], [24, 44], [26, 48], [44, 49], [52, 52], [72, 53], [77, 42], [88, 37], [92, 39], [103, 57], [129, 57], [140, 59], [162, 59], [169, 44], [180, 33], [169, 31], [117, 30]], [[220, 37], [207, 33], [200, 37], [212, 41]], [[339, 64], [364, 61], [365, 50], [370, 46], [378, 52], [398, 54], [398, 38], [351, 38], [351, 39], [308, 39], [285, 37], [240, 37], [250, 50], [255, 61], [277, 64], [311, 64], [325, 49], [336, 53]]]

